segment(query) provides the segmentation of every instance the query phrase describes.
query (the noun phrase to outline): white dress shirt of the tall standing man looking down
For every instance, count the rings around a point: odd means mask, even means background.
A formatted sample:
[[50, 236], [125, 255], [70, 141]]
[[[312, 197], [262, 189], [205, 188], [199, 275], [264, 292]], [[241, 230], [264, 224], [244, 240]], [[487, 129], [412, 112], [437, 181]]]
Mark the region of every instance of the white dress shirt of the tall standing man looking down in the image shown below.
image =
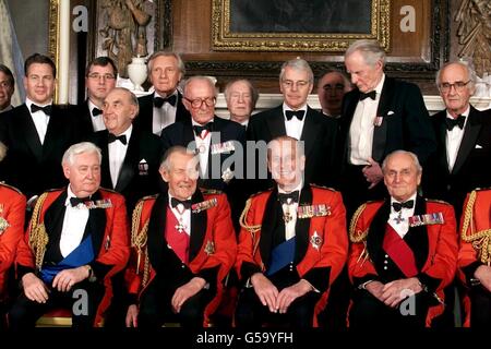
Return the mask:
[[366, 98], [359, 100], [351, 125], [349, 127], [349, 163], [352, 165], [369, 165], [368, 159], [372, 156], [373, 131], [379, 108], [380, 95], [385, 82], [385, 74], [375, 87], [375, 99]]

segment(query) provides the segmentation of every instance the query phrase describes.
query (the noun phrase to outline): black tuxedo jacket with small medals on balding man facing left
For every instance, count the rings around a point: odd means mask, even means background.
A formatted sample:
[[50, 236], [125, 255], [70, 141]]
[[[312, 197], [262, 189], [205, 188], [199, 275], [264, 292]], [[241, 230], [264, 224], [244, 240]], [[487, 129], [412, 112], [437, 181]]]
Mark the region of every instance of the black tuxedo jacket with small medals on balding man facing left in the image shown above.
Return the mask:
[[[139, 132], [133, 128], [118, 182], [115, 185], [109, 170], [108, 134], [107, 130], [103, 130], [89, 137], [89, 141], [100, 147], [103, 153], [100, 185], [122, 194], [127, 201], [127, 210], [131, 216], [141, 197], [158, 192], [161, 144], [155, 134]], [[146, 165], [142, 160], [145, 160]]]

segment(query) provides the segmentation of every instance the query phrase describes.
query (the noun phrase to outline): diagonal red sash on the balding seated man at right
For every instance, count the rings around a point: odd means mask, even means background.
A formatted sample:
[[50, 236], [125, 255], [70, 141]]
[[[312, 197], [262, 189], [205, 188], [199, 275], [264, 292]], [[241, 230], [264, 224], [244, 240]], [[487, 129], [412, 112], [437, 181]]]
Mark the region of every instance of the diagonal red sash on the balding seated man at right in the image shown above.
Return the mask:
[[382, 248], [406, 277], [412, 277], [418, 274], [412, 250], [388, 224], [385, 228]]

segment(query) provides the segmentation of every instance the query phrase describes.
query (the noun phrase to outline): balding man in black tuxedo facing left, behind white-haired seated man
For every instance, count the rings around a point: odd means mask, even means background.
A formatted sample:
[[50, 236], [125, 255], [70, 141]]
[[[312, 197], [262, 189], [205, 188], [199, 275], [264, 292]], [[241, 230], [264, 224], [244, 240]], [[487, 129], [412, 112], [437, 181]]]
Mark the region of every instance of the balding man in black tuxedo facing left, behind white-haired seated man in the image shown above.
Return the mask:
[[140, 198], [158, 191], [161, 157], [159, 139], [133, 128], [137, 112], [136, 97], [127, 88], [115, 87], [104, 99], [106, 130], [89, 137], [103, 153], [101, 186], [124, 196], [129, 217]]

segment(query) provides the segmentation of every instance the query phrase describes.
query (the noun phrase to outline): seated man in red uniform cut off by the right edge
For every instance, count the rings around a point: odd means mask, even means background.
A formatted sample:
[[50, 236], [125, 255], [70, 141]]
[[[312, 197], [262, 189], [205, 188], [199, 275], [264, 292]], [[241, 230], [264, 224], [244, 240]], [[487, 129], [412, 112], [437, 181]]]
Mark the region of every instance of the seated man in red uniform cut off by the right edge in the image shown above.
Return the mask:
[[467, 195], [460, 224], [458, 270], [469, 287], [464, 326], [490, 328], [491, 266], [491, 190], [476, 190]]

